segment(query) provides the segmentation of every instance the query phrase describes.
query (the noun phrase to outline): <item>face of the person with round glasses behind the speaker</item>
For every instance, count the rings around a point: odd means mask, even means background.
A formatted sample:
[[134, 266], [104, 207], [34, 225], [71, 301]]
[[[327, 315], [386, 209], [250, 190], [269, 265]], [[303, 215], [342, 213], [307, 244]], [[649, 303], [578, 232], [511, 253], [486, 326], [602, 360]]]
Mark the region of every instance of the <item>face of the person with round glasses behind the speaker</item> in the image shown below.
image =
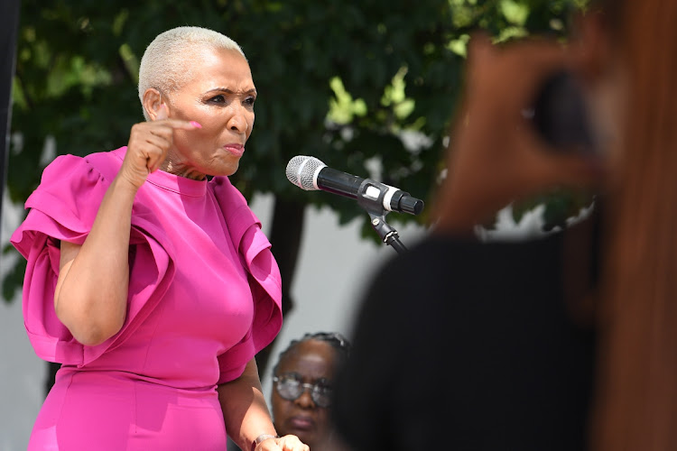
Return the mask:
[[[284, 356], [277, 376], [297, 374], [301, 382], [325, 382], [332, 386], [337, 364], [337, 351], [327, 342], [308, 340], [296, 345]], [[293, 434], [313, 449], [329, 434], [329, 410], [318, 406], [306, 388], [296, 400], [285, 400], [273, 388], [273, 417], [280, 436]]]

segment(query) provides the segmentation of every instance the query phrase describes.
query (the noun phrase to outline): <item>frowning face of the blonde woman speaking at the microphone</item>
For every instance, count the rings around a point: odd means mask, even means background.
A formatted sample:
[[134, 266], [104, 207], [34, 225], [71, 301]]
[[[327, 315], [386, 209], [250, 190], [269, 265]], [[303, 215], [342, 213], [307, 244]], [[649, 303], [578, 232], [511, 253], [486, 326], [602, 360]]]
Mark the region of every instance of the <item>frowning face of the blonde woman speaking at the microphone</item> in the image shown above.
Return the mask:
[[249, 64], [233, 50], [202, 49], [191, 59], [199, 67], [170, 94], [167, 106], [170, 117], [202, 128], [174, 131], [162, 169], [190, 179], [232, 175], [254, 127], [256, 89]]

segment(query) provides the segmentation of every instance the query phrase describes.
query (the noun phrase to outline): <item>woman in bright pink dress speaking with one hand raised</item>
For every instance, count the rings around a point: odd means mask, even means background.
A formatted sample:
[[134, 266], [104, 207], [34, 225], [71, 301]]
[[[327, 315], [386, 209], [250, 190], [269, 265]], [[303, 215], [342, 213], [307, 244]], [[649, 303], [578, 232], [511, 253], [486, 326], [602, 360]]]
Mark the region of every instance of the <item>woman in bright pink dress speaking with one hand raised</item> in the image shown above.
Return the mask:
[[228, 434], [247, 451], [308, 450], [277, 437], [255, 363], [282, 294], [227, 179], [254, 125], [246, 57], [218, 32], [163, 32], [139, 97], [127, 146], [58, 157], [11, 238], [28, 336], [62, 364], [28, 448], [225, 450]]

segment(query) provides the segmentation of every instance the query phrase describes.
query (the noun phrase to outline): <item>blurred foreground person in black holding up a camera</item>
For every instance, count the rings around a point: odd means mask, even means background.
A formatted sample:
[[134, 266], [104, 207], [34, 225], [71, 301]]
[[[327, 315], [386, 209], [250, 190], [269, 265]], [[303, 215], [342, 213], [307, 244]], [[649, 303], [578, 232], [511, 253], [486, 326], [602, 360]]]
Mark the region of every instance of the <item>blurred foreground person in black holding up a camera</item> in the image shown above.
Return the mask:
[[[677, 449], [677, 3], [599, 1], [567, 46], [470, 40], [431, 236], [377, 272], [332, 414], [360, 450]], [[520, 115], [566, 70], [595, 154]], [[521, 243], [475, 225], [552, 187], [586, 220]]]

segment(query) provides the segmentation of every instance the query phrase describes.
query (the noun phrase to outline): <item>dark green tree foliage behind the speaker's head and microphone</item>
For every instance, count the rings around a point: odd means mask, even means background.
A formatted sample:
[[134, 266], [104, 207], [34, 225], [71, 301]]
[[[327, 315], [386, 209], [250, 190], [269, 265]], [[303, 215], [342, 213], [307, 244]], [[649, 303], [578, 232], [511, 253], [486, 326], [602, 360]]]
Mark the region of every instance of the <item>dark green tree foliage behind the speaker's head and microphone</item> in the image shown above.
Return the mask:
[[[145, 46], [179, 25], [235, 39], [259, 93], [256, 126], [232, 178], [247, 198], [273, 192], [330, 205], [342, 222], [354, 202], [303, 192], [284, 176], [292, 156], [369, 174], [431, 200], [442, 141], [458, 101], [465, 45], [482, 28], [496, 41], [532, 32], [563, 35], [580, 0], [23, 0], [14, 81], [8, 190], [23, 202], [40, 179], [45, 140], [59, 154], [125, 145], [142, 121], [136, 80]], [[408, 149], [403, 131], [427, 137]], [[394, 222], [427, 216], [392, 215]], [[390, 220], [390, 217], [389, 217]]]

